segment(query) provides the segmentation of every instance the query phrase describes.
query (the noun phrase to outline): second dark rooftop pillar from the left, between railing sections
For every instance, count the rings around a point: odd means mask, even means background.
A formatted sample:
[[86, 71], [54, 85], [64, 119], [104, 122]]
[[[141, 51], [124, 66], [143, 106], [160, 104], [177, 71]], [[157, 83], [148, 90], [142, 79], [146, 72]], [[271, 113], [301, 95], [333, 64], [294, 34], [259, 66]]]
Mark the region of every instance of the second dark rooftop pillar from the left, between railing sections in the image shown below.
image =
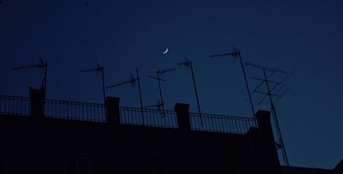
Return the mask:
[[113, 126], [120, 125], [120, 108], [118, 97], [106, 97], [107, 122]]

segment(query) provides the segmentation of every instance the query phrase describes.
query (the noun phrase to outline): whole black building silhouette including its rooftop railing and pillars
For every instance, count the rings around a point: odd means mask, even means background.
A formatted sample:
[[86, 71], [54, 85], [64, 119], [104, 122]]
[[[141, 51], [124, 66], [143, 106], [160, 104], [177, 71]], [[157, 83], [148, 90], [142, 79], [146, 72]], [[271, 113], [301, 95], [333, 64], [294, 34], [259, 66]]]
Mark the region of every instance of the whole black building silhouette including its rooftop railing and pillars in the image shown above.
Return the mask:
[[[163, 114], [161, 114], [163, 112]], [[257, 119], [0, 96], [0, 174], [342, 173], [281, 166], [270, 112]], [[258, 126], [257, 126], [258, 125]]]

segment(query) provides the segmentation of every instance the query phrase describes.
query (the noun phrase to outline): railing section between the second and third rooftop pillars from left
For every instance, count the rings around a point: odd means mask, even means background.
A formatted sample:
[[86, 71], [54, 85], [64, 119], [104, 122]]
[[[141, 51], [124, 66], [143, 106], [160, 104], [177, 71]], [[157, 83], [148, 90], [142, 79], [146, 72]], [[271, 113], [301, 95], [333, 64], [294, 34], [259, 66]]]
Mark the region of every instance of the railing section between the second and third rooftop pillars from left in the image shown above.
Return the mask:
[[[143, 116], [142, 116], [143, 111]], [[176, 112], [173, 110], [152, 110], [120, 107], [120, 123], [127, 125], [146, 125], [153, 127], [178, 128]]]

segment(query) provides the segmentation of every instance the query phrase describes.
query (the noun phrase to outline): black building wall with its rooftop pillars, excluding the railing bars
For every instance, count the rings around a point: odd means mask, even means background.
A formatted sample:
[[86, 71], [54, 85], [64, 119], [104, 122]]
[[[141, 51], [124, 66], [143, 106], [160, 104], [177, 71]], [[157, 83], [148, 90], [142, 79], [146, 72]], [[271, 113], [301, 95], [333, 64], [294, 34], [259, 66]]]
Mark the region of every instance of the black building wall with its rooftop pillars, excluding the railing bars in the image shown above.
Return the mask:
[[108, 123], [95, 123], [35, 116], [43, 100], [30, 97], [31, 116], [0, 116], [8, 173], [64, 173], [74, 157], [92, 173], [281, 173], [267, 111], [259, 128], [223, 134], [191, 130], [187, 104], [176, 103], [179, 129], [169, 129], [120, 124], [119, 98], [106, 99]]

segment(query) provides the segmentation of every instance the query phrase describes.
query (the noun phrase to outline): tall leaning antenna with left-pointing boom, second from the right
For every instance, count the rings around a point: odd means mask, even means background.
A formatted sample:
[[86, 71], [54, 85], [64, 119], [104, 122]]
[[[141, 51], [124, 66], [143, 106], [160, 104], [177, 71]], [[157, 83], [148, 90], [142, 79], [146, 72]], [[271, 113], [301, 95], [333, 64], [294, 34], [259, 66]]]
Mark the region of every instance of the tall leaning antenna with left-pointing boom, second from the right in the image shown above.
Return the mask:
[[[246, 79], [246, 70], [244, 69], [243, 61], [241, 60], [241, 52], [239, 51], [239, 49], [236, 49], [235, 47], [233, 47], [233, 51], [230, 51], [228, 53], [209, 55], [209, 57], [210, 58], [218, 58], [218, 57], [224, 57], [224, 56], [229, 56], [229, 55], [232, 55], [235, 60], [239, 59], [239, 61], [241, 62], [241, 71], [243, 72], [244, 80], [246, 81], [246, 90], [248, 91], [248, 96], [249, 96], [249, 100], [250, 100], [250, 107], [252, 110], [252, 116], [256, 119], [254, 105], [252, 105], [252, 99], [251, 99], [251, 95], [250, 95], [249, 85], [248, 85], [248, 81]], [[256, 121], [255, 121], [255, 125], [256, 125]]]

